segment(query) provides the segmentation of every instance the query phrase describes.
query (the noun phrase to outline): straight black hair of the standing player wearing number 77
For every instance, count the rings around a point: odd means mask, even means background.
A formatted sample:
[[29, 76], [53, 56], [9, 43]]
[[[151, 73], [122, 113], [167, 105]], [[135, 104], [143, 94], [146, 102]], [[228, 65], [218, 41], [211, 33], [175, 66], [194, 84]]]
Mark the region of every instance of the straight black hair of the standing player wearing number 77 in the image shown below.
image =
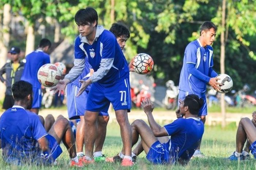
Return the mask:
[[76, 12], [75, 22], [76, 24], [91, 24], [96, 21], [96, 27], [98, 25], [98, 14], [97, 11], [92, 7], [80, 9]]

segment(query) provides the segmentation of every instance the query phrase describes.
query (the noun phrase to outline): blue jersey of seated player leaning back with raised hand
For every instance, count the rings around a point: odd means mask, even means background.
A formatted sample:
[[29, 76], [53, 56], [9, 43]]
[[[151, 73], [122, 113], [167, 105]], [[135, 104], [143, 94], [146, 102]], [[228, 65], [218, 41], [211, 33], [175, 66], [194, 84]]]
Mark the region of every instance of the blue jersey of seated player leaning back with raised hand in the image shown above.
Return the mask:
[[176, 162], [180, 158], [189, 160], [203, 136], [203, 122], [199, 118], [178, 118], [164, 128], [171, 136], [169, 142], [164, 145], [169, 148], [173, 161]]

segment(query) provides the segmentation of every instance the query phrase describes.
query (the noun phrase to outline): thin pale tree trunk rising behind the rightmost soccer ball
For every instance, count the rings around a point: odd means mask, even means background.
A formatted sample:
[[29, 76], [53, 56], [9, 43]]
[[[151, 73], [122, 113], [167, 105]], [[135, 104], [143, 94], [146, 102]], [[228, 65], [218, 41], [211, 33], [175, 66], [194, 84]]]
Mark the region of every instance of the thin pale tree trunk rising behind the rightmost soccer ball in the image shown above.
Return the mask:
[[[225, 24], [226, 24], [226, 0], [222, 1], [222, 19], [221, 19], [221, 73], [225, 73]], [[222, 128], [226, 126], [225, 94], [221, 94], [221, 115]]]

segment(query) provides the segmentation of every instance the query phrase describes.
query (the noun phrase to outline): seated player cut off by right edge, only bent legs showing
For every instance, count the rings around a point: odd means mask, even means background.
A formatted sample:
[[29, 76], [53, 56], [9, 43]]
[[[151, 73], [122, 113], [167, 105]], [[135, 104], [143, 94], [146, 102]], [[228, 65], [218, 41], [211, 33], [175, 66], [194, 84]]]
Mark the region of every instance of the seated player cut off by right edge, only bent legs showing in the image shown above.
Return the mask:
[[[244, 144], [247, 140], [245, 150]], [[252, 113], [252, 120], [248, 117], [241, 118], [236, 135], [236, 151], [229, 156], [229, 160], [250, 159], [249, 152], [256, 159], [256, 111]]]

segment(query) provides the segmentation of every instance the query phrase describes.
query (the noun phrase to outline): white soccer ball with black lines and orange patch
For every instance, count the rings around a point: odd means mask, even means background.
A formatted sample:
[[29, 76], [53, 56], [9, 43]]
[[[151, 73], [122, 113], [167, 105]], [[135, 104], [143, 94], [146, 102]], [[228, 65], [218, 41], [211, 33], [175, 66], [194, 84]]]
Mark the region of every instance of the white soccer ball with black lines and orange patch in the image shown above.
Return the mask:
[[147, 74], [154, 67], [152, 57], [146, 53], [139, 53], [132, 58], [132, 68], [138, 74]]

